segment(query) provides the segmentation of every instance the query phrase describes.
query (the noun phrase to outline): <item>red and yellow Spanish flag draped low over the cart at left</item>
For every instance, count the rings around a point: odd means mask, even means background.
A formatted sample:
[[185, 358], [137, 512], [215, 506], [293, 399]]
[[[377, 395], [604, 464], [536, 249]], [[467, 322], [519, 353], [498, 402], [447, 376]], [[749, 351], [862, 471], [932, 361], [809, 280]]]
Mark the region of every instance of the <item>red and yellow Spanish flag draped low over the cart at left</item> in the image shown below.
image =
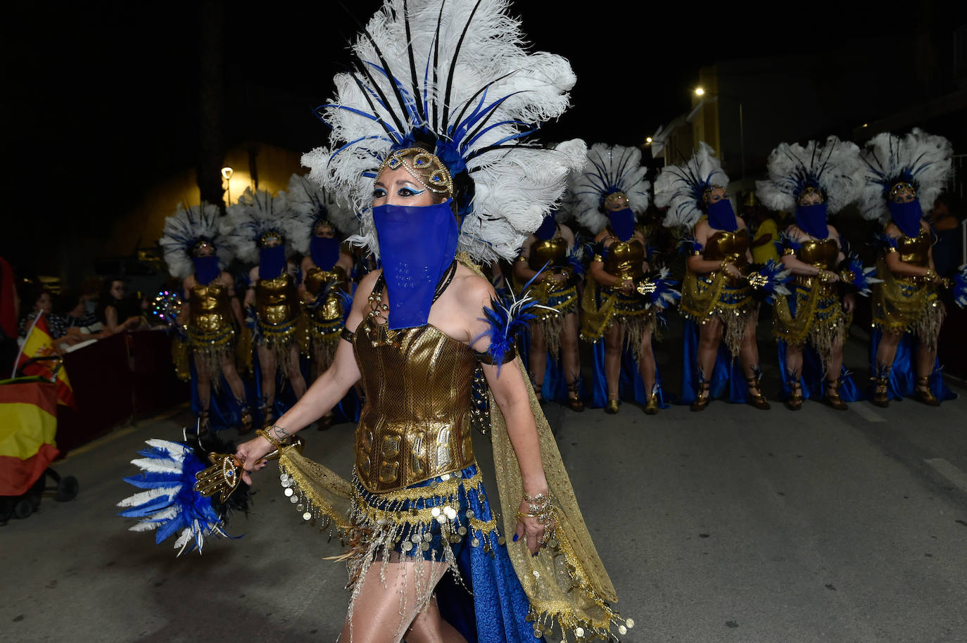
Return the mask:
[[57, 385], [40, 378], [0, 382], [0, 496], [26, 493], [60, 453]]

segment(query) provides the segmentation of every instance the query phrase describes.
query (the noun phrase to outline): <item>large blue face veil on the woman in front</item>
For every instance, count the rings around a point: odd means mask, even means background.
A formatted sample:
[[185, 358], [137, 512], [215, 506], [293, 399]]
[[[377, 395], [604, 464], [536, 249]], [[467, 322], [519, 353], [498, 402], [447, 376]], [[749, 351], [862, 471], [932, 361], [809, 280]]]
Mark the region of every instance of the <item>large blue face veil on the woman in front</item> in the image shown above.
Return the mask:
[[378, 205], [372, 209], [390, 296], [392, 330], [426, 324], [436, 286], [456, 254], [459, 229], [452, 201], [427, 206]]

